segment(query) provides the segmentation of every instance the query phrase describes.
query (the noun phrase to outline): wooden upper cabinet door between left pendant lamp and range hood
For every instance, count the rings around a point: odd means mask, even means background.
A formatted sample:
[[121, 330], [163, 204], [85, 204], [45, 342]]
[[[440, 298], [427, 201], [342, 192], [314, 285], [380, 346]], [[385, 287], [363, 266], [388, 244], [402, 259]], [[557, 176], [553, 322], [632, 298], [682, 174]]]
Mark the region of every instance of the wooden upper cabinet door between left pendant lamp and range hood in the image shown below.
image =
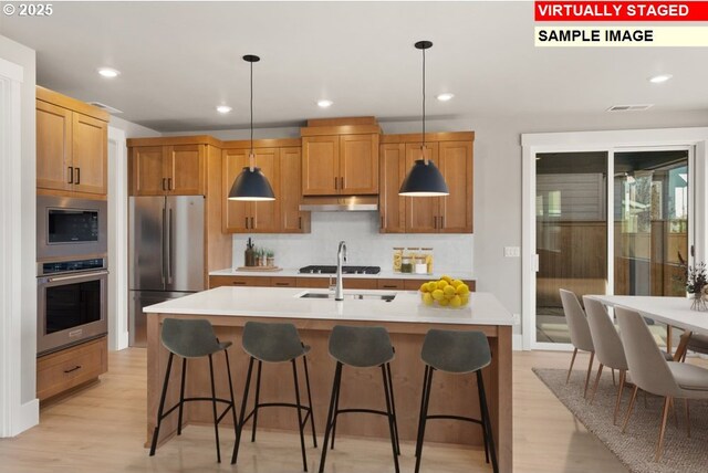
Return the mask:
[[303, 233], [310, 228], [310, 212], [300, 211], [302, 197], [301, 148], [280, 148], [280, 201], [281, 231], [283, 233]]

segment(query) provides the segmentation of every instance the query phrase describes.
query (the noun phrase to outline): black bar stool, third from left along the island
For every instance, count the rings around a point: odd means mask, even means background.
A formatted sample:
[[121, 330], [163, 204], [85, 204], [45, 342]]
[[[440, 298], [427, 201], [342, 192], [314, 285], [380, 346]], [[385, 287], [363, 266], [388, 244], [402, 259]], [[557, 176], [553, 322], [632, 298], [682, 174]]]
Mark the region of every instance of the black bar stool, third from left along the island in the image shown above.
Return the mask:
[[[396, 473], [398, 469], [398, 455], [400, 448], [398, 444], [398, 425], [396, 422], [396, 406], [394, 403], [394, 387], [391, 377], [391, 361], [394, 359], [394, 347], [391, 345], [388, 332], [384, 327], [346, 327], [335, 325], [330, 335], [330, 355], [336, 360], [334, 371], [334, 383], [332, 386], [332, 398], [330, 399], [330, 410], [327, 412], [327, 423], [322, 444], [322, 459], [320, 460], [320, 473], [324, 472], [324, 462], [327, 454], [327, 442], [332, 434], [332, 445], [334, 449], [334, 433], [336, 430], [336, 419], [341, 413], [366, 412], [388, 418], [388, 429], [391, 431], [391, 446], [394, 454], [394, 465]], [[342, 385], [342, 367], [344, 365], [356, 368], [381, 367], [384, 395], [386, 398], [386, 411], [373, 409], [340, 409], [340, 391]]]

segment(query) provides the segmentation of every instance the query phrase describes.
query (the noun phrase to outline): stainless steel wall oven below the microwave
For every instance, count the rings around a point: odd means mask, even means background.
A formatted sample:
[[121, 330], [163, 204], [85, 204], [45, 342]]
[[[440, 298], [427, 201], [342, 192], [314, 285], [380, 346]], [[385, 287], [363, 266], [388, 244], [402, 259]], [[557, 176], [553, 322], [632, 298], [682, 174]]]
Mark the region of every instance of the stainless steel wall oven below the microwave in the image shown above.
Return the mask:
[[38, 263], [38, 355], [107, 333], [105, 257]]

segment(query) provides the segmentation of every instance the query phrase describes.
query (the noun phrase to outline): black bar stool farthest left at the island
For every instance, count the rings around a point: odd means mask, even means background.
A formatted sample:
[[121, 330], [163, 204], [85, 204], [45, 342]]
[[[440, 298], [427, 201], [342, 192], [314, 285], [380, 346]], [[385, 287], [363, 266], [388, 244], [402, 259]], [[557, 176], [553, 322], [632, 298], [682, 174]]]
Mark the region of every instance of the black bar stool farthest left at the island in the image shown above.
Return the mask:
[[[231, 341], [219, 343], [214, 333], [214, 328], [209, 320], [186, 320], [178, 318], [166, 318], [163, 322], [163, 332], [160, 340], [165, 348], [169, 350], [167, 360], [167, 370], [165, 372], [165, 382], [163, 383], [163, 395], [159, 398], [159, 408], [157, 410], [157, 425], [153, 432], [153, 443], [150, 445], [150, 456], [155, 454], [157, 448], [157, 438], [159, 437], [159, 427], [167, 416], [173, 413], [175, 409], [179, 409], [179, 419], [177, 423], [177, 435], [181, 434], [181, 416], [185, 402], [190, 401], [211, 401], [214, 408], [214, 433], [217, 439], [217, 461], [221, 462], [221, 450], [219, 448], [219, 422], [231, 410], [233, 418], [233, 430], [238, 435], [236, 421], [236, 404], [233, 402], [233, 385], [231, 383], [231, 367], [229, 365], [229, 353], [227, 348], [231, 346]], [[211, 356], [218, 351], [223, 351], [226, 357], [226, 370], [229, 378], [229, 392], [231, 399], [219, 399], [216, 395], [214, 385], [214, 362]], [[167, 397], [167, 383], [169, 381], [169, 372], [173, 367], [173, 358], [177, 355], [181, 360], [181, 386], [179, 388], [179, 402], [165, 412], [165, 398]], [[185, 380], [187, 375], [187, 359], [209, 357], [209, 374], [211, 375], [211, 397], [210, 398], [185, 398]], [[227, 404], [227, 408], [217, 416], [217, 402]]]

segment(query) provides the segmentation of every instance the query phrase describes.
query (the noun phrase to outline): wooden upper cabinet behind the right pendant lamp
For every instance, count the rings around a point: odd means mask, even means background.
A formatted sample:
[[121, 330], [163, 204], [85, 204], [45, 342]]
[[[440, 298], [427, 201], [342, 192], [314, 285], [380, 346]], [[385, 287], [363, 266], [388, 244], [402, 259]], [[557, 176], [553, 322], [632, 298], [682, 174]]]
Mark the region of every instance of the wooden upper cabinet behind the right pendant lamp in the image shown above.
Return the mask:
[[419, 134], [384, 135], [379, 167], [382, 233], [471, 233], [475, 134], [426, 134], [426, 157], [440, 169], [446, 197], [400, 197], [400, 183], [420, 159]]

